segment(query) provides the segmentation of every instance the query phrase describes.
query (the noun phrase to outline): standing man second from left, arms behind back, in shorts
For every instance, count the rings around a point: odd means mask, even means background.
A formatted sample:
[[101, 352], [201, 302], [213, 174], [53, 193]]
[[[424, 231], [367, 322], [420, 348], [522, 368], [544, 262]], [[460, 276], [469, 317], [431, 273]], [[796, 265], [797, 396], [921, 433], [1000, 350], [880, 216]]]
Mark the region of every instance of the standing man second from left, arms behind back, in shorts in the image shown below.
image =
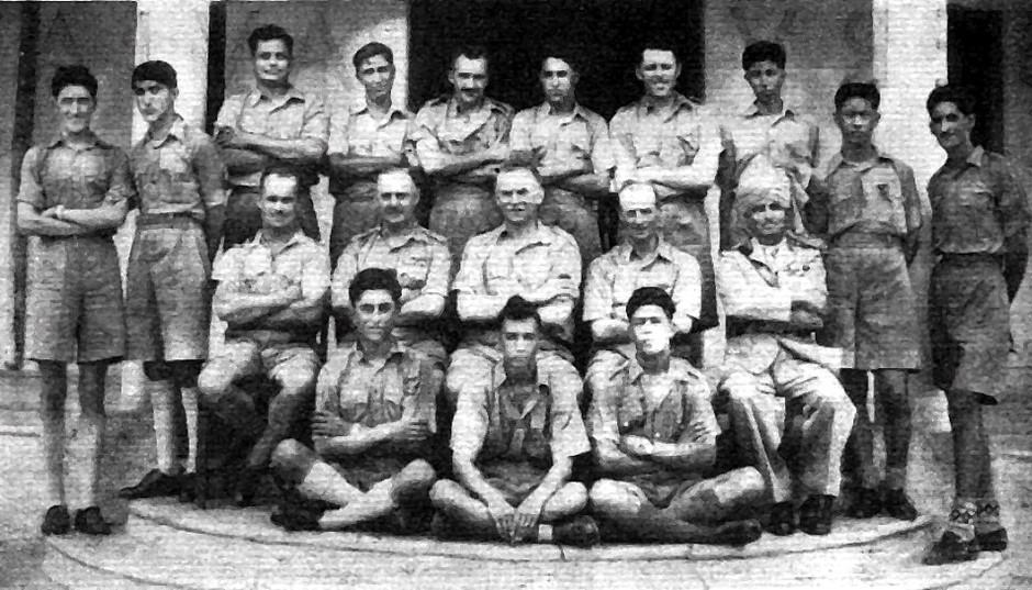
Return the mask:
[[120, 496], [189, 497], [189, 478], [181, 477], [183, 393], [197, 399], [207, 358], [209, 279], [222, 240], [226, 170], [212, 138], [176, 112], [172, 66], [145, 62], [132, 85], [147, 133], [130, 153], [139, 215], [126, 278], [126, 357], [143, 360], [150, 381], [158, 466]]

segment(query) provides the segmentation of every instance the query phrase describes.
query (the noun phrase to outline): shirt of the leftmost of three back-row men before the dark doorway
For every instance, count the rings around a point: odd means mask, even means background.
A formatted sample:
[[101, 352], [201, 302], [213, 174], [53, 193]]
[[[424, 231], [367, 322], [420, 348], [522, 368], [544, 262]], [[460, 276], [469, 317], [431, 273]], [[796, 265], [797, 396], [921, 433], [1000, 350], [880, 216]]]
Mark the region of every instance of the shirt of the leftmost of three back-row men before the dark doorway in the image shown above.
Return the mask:
[[452, 97], [428, 101], [416, 113], [412, 140], [424, 166], [442, 154], [461, 156], [508, 142], [513, 108], [485, 98], [475, 111], [459, 114]]

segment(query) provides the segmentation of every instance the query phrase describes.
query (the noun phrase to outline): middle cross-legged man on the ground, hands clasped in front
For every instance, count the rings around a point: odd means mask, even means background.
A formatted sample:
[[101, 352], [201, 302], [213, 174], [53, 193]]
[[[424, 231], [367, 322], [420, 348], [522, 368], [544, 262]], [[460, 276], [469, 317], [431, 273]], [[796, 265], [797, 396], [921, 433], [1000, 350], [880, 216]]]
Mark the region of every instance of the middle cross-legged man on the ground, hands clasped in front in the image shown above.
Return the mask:
[[590, 516], [567, 520], [587, 503], [584, 485], [569, 481], [573, 457], [591, 449], [576, 402], [581, 379], [568, 361], [538, 353], [536, 305], [513, 297], [501, 320], [502, 359], [459, 396], [451, 427], [458, 481], [430, 490], [435, 533], [594, 545]]

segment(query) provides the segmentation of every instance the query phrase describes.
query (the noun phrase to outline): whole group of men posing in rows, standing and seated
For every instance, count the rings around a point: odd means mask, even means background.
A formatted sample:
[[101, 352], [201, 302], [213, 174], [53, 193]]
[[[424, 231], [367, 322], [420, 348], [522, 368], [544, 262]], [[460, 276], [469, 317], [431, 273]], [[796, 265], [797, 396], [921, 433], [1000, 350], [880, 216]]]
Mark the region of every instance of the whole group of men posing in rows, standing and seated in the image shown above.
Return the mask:
[[[930, 221], [956, 501], [926, 560], [1006, 547], [980, 405], [1001, 380], [1029, 213], [1006, 160], [972, 144], [963, 89], [928, 100], [946, 163], [926, 220], [910, 168], [872, 142], [871, 84], [835, 93], [842, 148], [816, 170], [818, 129], [782, 99], [775, 43], [745, 48], [755, 101], [721, 125], [675, 90], [681, 65], [661, 44], [639, 54], [643, 97], [607, 125], [576, 101], [579, 69], [561, 52], [540, 63], [546, 101], [514, 115], [485, 97], [486, 54], [459, 49], [453, 92], [412, 115], [392, 102], [391, 49], [370, 43], [354, 58], [363, 104], [330, 116], [290, 84], [285, 31], [266, 25], [248, 43], [255, 88], [226, 99], [214, 137], [176, 113], [171, 66], [137, 66], [148, 131], [127, 156], [90, 131], [90, 73], [54, 76], [61, 133], [26, 154], [18, 197], [19, 229], [36, 236], [26, 347], [43, 375], [45, 534], [110, 532], [97, 469], [104, 372], [123, 357], [144, 361], [158, 463], [126, 498], [189, 499], [177, 431], [192, 393], [232, 430], [234, 501], [253, 503], [271, 471], [272, 519], [289, 530], [411, 532], [433, 511], [438, 536], [511, 543], [820, 535], [843, 456], [851, 515], [913, 520], [908, 265]], [[310, 194], [319, 174], [336, 201], [328, 253]], [[715, 182], [716, 265], [704, 208]], [[603, 253], [597, 205], [613, 194], [620, 241]], [[123, 308], [111, 236], [131, 208]], [[718, 294], [728, 346], [710, 383], [693, 363]], [[211, 310], [227, 329], [210, 357]], [[71, 361], [90, 449], [74, 522], [61, 476]], [[243, 385], [256, 376], [274, 383], [268, 400]]]

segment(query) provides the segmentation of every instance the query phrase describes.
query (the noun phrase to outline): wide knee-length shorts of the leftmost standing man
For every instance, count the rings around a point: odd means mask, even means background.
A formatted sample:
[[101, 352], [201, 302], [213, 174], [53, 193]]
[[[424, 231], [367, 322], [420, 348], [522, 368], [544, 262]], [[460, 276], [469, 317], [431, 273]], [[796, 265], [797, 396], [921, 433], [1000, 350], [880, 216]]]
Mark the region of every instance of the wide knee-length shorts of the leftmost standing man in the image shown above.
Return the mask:
[[33, 237], [25, 356], [91, 363], [125, 354], [119, 253], [110, 237]]

